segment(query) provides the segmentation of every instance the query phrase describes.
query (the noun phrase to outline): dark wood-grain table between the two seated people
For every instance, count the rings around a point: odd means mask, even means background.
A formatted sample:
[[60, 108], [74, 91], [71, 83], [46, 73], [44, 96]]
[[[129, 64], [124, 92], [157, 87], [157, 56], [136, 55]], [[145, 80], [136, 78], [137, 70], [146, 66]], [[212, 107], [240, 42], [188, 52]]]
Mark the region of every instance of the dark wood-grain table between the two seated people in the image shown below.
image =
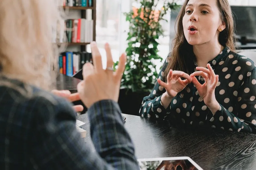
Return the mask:
[[[256, 135], [242, 132], [198, 132], [174, 129], [147, 118], [123, 114], [125, 128], [135, 145], [137, 158], [189, 156], [203, 169], [256, 169]], [[90, 138], [87, 113], [77, 116], [85, 122], [84, 138], [94, 148]]]

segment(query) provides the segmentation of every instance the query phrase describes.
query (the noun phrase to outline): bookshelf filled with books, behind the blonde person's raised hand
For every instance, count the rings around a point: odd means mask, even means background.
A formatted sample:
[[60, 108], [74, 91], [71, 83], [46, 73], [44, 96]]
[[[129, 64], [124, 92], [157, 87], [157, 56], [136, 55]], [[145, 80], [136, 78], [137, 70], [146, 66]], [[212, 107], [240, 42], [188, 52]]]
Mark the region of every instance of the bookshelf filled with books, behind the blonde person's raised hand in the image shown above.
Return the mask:
[[[91, 7], [89, 3], [92, 3]], [[96, 41], [96, 0], [62, 0], [59, 8], [66, 10], [67, 16], [58, 23], [61, 31], [56, 35], [56, 42], [69, 48], [59, 54], [58, 69], [61, 74], [73, 76], [84, 63], [92, 63], [86, 47]]]

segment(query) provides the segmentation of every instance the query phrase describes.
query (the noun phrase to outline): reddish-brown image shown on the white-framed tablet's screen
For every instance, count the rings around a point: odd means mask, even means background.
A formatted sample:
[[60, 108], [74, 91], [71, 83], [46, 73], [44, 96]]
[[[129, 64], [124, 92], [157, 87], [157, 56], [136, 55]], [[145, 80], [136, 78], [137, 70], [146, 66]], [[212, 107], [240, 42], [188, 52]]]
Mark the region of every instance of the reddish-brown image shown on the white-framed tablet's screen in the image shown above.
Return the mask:
[[160, 170], [162, 167], [164, 167], [164, 170], [176, 170], [179, 165], [183, 170], [187, 170], [187, 165], [184, 160], [162, 161], [156, 170]]

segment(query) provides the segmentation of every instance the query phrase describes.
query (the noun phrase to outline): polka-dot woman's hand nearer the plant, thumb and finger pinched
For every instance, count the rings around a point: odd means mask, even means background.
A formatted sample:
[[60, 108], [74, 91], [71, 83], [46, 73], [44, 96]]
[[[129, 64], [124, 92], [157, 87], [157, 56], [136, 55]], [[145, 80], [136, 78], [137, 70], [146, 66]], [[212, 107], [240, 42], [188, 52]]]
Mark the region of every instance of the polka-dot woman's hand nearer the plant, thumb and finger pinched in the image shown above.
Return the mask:
[[[185, 80], [181, 80], [181, 77], [185, 78]], [[163, 82], [159, 78], [157, 82], [160, 86], [165, 88], [166, 93], [169, 95], [170, 98], [175, 97], [181, 90], [183, 90], [187, 84], [192, 82], [191, 76], [183, 71], [176, 71], [170, 69], [167, 75], [167, 83]]]

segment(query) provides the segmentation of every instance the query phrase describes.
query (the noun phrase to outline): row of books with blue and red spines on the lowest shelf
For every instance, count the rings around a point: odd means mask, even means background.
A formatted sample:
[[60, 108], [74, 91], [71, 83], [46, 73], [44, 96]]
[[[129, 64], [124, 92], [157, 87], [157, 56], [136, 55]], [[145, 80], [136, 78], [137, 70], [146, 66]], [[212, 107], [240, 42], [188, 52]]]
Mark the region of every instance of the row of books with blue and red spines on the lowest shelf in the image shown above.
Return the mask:
[[59, 55], [59, 72], [67, 76], [73, 76], [87, 62], [92, 63], [92, 53], [85, 51], [63, 52]]

